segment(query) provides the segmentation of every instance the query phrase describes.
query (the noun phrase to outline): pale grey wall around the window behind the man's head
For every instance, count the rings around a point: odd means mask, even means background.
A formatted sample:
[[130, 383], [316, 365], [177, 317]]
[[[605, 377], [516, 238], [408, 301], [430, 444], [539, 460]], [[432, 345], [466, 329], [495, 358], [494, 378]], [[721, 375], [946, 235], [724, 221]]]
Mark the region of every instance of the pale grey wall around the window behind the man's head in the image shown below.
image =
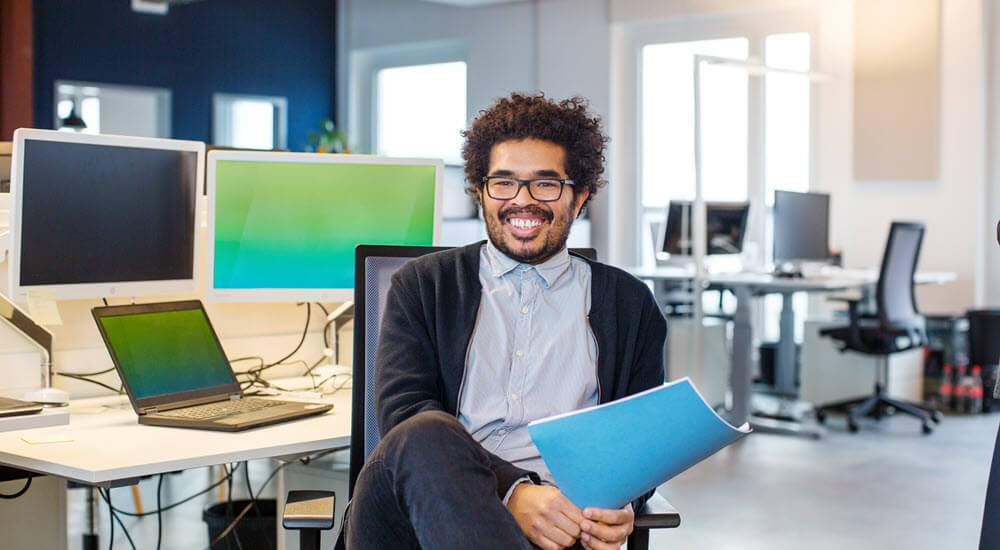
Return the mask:
[[[468, 117], [513, 91], [542, 91], [562, 99], [579, 94], [595, 114], [608, 118], [610, 29], [605, 0], [533, 0], [483, 7], [455, 7], [415, 0], [345, 0], [338, 23], [341, 64], [426, 45], [456, 44], [465, 49], [468, 70]], [[341, 67], [350, 75], [351, 67]], [[352, 84], [338, 83], [338, 120], [360, 124], [365, 109], [346, 96]], [[355, 92], [356, 94], [356, 92]], [[364, 128], [352, 129], [364, 133]], [[611, 183], [617, 185], [616, 182]], [[590, 205], [592, 243], [607, 258], [607, 193]]]

